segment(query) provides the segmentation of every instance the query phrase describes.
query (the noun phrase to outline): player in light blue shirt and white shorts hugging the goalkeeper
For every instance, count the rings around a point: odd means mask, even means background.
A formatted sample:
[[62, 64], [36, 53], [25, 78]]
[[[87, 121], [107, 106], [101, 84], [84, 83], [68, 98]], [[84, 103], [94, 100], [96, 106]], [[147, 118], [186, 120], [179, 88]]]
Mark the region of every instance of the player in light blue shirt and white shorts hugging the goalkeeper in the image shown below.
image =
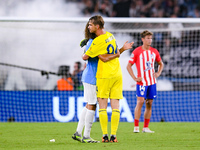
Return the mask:
[[[83, 47], [86, 45], [86, 51], [92, 44], [93, 39], [96, 37], [94, 33], [90, 33], [88, 30], [89, 22], [85, 27], [85, 39], [81, 41], [80, 46]], [[116, 57], [119, 57], [120, 54], [105, 54], [99, 56], [103, 61], [109, 61]], [[83, 108], [76, 133], [72, 135], [74, 140], [80, 141], [82, 143], [99, 143], [99, 141], [94, 140], [90, 137], [90, 131], [94, 120], [97, 96], [96, 96], [96, 72], [97, 72], [98, 57], [88, 58], [87, 66], [82, 74], [82, 82], [84, 87], [84, 100], [87, 102], [86, 106]], [[84, 134], [82, 137], [82, 131], [84, 129]]]

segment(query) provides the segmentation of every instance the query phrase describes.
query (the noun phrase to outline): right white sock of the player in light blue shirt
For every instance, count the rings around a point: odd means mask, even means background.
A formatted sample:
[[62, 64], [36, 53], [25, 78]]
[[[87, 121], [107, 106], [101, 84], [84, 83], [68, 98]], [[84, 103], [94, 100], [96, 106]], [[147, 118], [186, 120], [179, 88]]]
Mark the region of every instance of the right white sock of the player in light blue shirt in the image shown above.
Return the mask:
[[90, 131], [92, 128], [93, 120], [94, 120], [94, 110], [87, 110], [86, 116], [85, 116], [85, 130], [84, 130], [84, 137], [89, 138], [90, 137]]

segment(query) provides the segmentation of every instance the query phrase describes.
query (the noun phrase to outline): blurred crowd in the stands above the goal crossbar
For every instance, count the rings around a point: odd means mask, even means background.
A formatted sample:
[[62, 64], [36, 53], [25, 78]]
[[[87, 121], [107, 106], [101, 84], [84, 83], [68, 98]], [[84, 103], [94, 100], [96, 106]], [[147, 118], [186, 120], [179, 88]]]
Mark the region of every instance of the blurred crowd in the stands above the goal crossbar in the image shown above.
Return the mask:
[[66, 0], [84, 5], [85, 16], [104, 17], [200, 17], [198, 0]]

